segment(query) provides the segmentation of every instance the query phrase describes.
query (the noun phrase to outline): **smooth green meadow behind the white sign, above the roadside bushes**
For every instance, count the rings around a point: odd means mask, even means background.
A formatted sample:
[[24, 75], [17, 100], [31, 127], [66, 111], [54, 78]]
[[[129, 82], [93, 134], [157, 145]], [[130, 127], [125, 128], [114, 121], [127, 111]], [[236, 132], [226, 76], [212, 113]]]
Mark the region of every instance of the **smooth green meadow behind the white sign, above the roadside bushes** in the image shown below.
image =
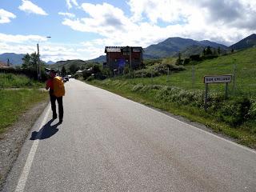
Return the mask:
[[[173, 58], [163, 59], [162, 62], [174, 63]], [[235, 74], [235, 81], [229, 84], [230, 94], [256, 95], [256, 48], [239, 51], [234, 54], [194, 62], [193, 66], [185, 66], [186, 70], [156, 78], [127, 79], [130, 83], [178, 86], [186, 90], [204, 90], [205, 75]], [[149, 66], [150, 67], [150, 66]], [[224, 84], [211, 84], [210, 90], [224, 92]]]

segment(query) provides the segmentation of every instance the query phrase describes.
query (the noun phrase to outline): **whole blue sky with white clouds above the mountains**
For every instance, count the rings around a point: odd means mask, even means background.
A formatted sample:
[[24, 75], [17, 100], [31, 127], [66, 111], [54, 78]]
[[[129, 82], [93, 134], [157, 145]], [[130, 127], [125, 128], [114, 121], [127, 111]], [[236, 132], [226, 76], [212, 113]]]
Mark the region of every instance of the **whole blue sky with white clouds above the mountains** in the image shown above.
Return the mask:
[[[256, 33], [255, 0], [0, 0], [0, 54], [88, 60], [166, 38], [230, 46]], [[47, 38], [51, 37], [51, 38]]]

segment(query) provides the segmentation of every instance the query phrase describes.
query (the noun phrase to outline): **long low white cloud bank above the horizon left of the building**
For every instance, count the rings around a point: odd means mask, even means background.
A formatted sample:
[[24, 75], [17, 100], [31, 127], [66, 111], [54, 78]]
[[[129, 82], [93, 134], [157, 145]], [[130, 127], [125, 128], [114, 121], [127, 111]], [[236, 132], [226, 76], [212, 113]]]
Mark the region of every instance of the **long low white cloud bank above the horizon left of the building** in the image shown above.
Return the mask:
[[37, 43], [39, 42], [40, 55], [43, 61], [58, 62], [67, 59], [83, 59], [98, 57], [101, 54], [101, 48], [94, 44], [60, 44], [50, 42], [50, 39], [39, 35], [11, 35], [0, 33], [0, 54], [32, 54], [37, 52]]

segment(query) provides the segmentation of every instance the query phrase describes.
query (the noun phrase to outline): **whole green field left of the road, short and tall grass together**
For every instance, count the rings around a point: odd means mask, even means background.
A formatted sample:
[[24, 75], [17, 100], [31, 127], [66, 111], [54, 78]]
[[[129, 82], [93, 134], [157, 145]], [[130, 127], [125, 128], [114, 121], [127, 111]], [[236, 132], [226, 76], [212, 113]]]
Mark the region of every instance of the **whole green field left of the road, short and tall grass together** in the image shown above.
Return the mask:
[[31, 80], [25, 75], [0, 74], [0, 134], [26, 110], [46, 100], [47, 93], [38, 90], [44, 86], [44, 83]]

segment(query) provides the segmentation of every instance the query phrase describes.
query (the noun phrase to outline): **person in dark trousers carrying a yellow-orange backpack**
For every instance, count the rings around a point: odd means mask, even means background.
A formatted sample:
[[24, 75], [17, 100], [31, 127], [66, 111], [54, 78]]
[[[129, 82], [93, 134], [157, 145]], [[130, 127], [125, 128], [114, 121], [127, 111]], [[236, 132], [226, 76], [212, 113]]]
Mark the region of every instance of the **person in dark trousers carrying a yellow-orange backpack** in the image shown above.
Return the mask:
[[56, 76], [54, 69], [50, 70], [49, 79], [46, 82], [46, 90], [49, 90], [51, 110], [53, 111], [53, 119], [57, 118], [56, 100], [58, 102], [58, 118], [59, 123], [63, 121], [63, 102], [62, 97], [65, 95], [64, 82], [61, 77]]

